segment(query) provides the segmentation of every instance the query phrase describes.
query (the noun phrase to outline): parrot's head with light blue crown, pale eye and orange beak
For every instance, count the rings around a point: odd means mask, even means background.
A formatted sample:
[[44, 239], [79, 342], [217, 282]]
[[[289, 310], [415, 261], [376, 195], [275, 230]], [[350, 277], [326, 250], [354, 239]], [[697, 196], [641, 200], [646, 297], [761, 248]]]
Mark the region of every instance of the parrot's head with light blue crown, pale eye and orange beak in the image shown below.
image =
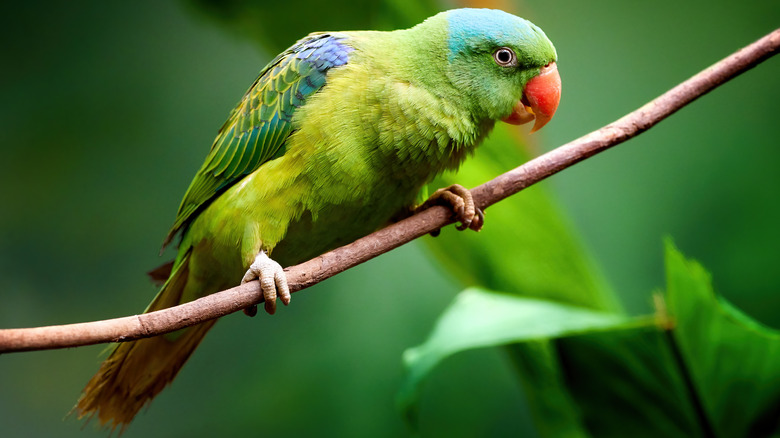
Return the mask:
[[561, 98], [557, 54], [531, 22], [503, 11], [456, 9], [444, 14], [452, 84], [476, 114], [524, 124], [550, 121]]

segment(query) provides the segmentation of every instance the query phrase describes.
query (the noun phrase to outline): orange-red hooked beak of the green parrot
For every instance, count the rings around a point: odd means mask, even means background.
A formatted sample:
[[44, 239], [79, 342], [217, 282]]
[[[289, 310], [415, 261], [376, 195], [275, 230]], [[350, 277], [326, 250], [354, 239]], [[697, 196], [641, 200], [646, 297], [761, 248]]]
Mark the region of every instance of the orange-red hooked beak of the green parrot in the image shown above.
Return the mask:
[[522, 125], [535, 119], [531, 132], [536, 132], [552, 119], [560, 101], [561, 76], [558, 74], [558, 66], [551, 62], [542, 67], [538, 76], [525, 84], [523, 98], [515, 104], [512, 113], [502, 120]]

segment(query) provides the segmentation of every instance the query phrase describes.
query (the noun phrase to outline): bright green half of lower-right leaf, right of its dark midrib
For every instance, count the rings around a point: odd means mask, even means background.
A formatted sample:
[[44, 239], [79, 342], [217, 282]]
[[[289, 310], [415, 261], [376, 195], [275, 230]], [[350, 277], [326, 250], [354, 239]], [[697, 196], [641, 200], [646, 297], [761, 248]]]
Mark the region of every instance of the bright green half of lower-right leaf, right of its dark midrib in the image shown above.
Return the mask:
[[710, 275], [666, 243], [667, 300], [674, 339], [707, 421], [718, 436], [780, 431], [780, 332], [715, 295]]

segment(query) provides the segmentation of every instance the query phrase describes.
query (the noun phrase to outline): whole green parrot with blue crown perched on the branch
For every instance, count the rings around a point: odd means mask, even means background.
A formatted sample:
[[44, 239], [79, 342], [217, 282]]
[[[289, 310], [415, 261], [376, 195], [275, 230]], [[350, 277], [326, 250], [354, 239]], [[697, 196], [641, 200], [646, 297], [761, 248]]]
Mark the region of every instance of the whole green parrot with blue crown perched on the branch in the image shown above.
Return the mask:
[[[282, 266], [413, 212], [425, 184], [457, 168], [496, 121], [544, 126], [560, 99], [556, 60], [541, 29], [489, 9], [301, 39], [262, 69], [219, 130], [165, 238], [163, 247], [181, 234], [178, 254], [146, 311], [259, 279], [274, 313], [277, 296], [290, 301]], [[481, 226], [462, 187], [432, 202], [452, 204], [462, 228]], [[113, 346], [74, 408], [79, 418], [123, 430], [212, 325]]]

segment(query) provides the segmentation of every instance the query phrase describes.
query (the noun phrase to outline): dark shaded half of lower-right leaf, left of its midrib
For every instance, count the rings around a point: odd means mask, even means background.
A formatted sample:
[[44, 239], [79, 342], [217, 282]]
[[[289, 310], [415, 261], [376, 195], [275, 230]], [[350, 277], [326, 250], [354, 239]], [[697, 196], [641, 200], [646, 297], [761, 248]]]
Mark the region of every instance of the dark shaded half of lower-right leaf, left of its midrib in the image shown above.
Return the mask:
[[[657, 325], [554, 341], [559, 390], [573, 400], [582, 433], [593, 437], [708, 436], [669, 334]], [[542, 389], [531, 378], [531, 393]], [[546, 394], [541, 395], [547, 398]], [[536, 416], [541, 429], [557, 423]], [[555, 436], [548, 434], [547, 436]]]

